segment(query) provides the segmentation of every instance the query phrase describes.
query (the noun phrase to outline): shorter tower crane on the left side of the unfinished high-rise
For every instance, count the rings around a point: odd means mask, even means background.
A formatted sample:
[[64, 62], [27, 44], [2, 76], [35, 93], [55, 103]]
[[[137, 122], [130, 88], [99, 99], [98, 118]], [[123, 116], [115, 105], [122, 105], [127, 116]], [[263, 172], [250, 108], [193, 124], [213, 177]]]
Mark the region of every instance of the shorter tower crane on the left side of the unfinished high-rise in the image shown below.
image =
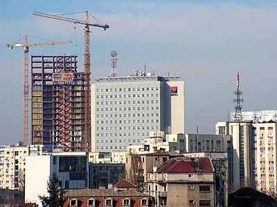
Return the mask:
[[71, 43], [71, 40], [44, 41], [37, 43], [28, 43], [28, 35], [24, 36], [24, 44], [7, 45], [7, 48], [24, 48], [24, 131], [23, 143], [28, 145], [28, 97], [29, 97], [29, 47], [30, 46], [51, 46], [56, 44]]

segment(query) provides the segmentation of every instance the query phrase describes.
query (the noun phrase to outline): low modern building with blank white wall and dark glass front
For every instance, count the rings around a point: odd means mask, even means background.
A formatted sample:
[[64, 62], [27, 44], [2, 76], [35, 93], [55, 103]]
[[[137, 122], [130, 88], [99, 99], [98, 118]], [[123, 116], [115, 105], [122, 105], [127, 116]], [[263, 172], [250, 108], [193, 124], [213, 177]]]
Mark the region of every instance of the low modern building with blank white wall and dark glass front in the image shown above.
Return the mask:
[[87, 152], [61, 152], [26, 157], [25, 201], [41, 206], [38, 195], [48, 195], [47, 181], [53, 174], [63, 189], [89, 187]]

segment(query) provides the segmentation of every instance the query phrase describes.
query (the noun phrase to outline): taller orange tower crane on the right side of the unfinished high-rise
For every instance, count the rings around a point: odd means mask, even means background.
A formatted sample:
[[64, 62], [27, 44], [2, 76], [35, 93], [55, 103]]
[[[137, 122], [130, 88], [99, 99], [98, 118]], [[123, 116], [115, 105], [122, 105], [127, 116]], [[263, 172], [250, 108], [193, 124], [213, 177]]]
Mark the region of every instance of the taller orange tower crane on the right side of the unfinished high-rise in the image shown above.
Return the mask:
[[71, 19], [68, 17], [60, 17], [53, 14], [45, 14], [42, 12], [33, 12], [34, 15], [39, 17], [46, 17], [49, 19], [57, 19], [61, 21], [69, 21], [73, 23], [80, 23], [84, 25], [84, 150], [90, 151], [91, 143], [91, 112], [90, 112], [90, 30], [89, 26], [103, 28], [106, 30], [109, 28], [107, 23], [89, 23], [89, 12], [86, 12], [85, 21], [79, 19]]

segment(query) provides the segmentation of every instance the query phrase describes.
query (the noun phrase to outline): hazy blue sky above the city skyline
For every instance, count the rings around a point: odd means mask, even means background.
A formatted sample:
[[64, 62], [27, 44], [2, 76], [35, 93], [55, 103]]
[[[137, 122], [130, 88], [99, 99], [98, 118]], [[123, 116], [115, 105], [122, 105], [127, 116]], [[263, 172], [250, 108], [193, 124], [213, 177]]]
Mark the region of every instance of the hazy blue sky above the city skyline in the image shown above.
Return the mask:
[[[32, 12], [85, 10], [110, 26], [106, 31], [91, 28], [92, 79], [109, 75], [111, 50], [118, 51], [118, 77], [145, 64], [156, 75], [180, 76], [185, 81], [186, 133], [195, 133], [195, 126], [199, 133], [214, 133], [216, 121], [227, 121], [238, 71], [242, 110], [277, 110], [277, 1], [2, 0], [0, 145], [23, 139], [24, 51], [8, 50], [6, 44], [23, 43], [17, 41], [25, 34], [71, 39], [74, 43], [31, 47], [29, 54], [78, 55], [83, 71], [83, 26]], [[66, 17], [84, 19], [84, 13]]]

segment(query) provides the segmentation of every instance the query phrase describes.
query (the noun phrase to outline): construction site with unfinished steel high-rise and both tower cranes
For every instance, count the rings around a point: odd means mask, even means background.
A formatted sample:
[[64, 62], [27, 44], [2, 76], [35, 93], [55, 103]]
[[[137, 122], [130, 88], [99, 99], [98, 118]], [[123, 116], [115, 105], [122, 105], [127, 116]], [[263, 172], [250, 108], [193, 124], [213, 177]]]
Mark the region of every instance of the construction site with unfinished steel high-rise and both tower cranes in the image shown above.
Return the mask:
[[[84, 69], [83, 72], [78, 71], [78, 60], [75, 55], [32, 55], [29, 67], [30, 46], [71, 43], [70, 40], [28, 43], [26, 35], [24, 44], [7, 45], [10, 49], [24, 48], [24, 145], [62, 146], [65, 152], [89, 152], [91, 151], [89, 26], [104, 30], [109, 26], [100, 23], [91, 14], [97, 23], [89, 23], [89, 12], [85, 12], [84, 21], [41, 12], [33, 14], [84, 25]], [[31, 123], [28, 120], [29, 111]]]

